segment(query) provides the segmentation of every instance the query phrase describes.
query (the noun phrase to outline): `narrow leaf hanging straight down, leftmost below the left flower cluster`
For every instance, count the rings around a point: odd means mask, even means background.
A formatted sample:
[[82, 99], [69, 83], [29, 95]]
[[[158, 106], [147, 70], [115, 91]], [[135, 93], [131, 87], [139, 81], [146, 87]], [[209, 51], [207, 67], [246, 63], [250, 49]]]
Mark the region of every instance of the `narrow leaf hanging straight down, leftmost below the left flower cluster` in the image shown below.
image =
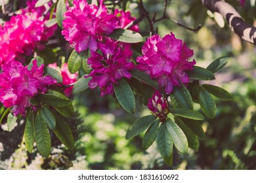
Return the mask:
[[26, 116], [26, 125], [24, 130], [24, 139], [28, 152], [32, 152], [33, 150], [33, 142], [35, 142], [35, 122], [33, 118], [32, 110], [28, 110], [28, 114]]

